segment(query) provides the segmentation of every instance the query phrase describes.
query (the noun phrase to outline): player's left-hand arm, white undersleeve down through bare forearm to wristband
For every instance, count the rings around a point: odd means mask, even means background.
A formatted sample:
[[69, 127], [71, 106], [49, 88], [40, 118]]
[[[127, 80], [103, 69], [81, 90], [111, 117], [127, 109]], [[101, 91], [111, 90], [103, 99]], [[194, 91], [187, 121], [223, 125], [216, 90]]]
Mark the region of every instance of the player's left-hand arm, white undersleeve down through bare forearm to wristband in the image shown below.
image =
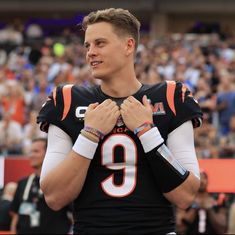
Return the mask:
[[[84, 146], [86, 139], [80, 137], [72, 145], [70, 137], [60, 128], [53, 125], [49, 127], [48, 147], [42, 166], [40, 184], [48, 205], [54, 210], [64, 207], [79, 195], [90, 159], [98, 145], [88, 140], [88, 146]], [[81, 142], [81, 139], [85, 142]]]

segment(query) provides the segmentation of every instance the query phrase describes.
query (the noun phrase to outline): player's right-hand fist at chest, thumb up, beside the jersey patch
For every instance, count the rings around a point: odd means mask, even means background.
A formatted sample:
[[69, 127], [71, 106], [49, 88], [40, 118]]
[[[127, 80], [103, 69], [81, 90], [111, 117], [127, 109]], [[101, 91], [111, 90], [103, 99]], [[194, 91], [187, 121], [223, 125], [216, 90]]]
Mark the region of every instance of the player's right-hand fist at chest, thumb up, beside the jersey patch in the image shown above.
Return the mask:
[[146, 95], [143, 96], [142, 102], [143, 104], [130, 96], [121, 105], [122, 119], [131, 131], [145, 122], [153, 122], [153, 111]]

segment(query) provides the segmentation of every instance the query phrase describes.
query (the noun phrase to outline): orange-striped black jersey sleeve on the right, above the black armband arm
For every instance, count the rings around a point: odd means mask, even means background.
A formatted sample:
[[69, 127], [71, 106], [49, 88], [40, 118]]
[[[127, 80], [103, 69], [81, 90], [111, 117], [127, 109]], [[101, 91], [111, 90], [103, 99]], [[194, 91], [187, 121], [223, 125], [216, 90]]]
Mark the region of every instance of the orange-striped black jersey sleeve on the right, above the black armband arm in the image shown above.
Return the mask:
[[194, 128], [201, 126], [203, 113], [192, 92], [181, 82], [167, 81], [166, 84], [167, 103], [173, 113], [171, 131], [189, 120]]

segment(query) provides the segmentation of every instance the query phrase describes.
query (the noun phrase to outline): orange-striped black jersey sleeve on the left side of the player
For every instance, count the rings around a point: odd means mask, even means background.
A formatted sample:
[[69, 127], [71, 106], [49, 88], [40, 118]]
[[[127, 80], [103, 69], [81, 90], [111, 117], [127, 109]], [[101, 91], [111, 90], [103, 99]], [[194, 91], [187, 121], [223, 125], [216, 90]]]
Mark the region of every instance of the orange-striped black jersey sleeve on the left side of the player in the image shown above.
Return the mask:
[[63, 120], [68, 115], [71, 106], [73, 85], [62, 85], [54, 88], [47, 98], [37, 116], [40, 129], [48, 132], [49, 124], [54, 124], [63, 129]]

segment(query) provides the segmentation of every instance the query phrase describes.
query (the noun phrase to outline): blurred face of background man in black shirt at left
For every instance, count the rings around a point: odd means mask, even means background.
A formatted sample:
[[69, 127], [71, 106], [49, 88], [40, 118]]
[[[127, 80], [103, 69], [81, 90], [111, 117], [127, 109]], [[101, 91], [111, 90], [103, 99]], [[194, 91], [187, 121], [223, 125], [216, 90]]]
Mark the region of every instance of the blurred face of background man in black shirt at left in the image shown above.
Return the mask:
[[44, 141], [33, 142], [30, 154], [30, 165], [34, 169], [41, 168], [45, 154], [46, 150]]

